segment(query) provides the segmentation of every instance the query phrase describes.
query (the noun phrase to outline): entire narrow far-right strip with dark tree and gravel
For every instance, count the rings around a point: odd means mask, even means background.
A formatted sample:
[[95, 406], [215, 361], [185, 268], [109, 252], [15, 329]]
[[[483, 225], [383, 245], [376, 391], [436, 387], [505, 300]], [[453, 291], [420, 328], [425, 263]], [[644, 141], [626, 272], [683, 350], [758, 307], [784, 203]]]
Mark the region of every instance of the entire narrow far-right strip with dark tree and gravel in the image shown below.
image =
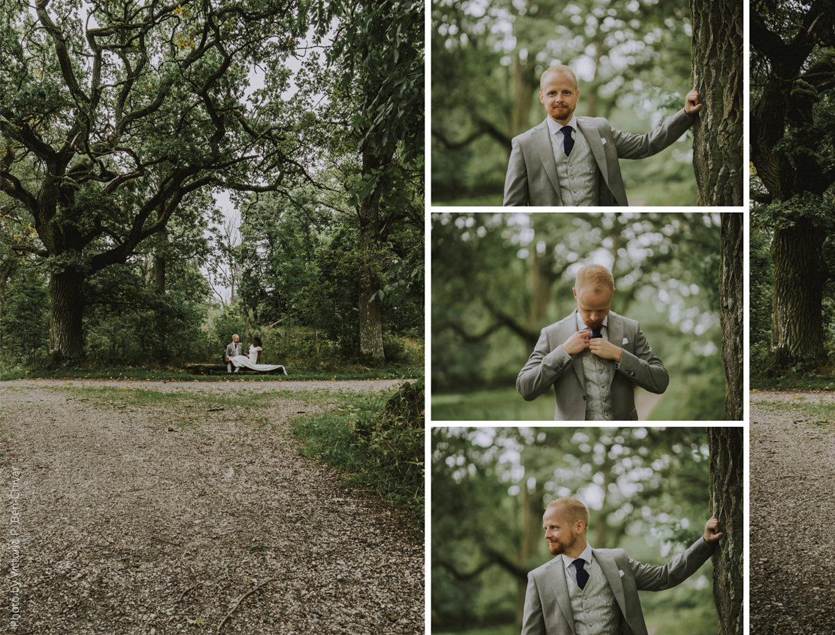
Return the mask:
[[[826, 632], [835, 455], [835, 7], [751, 5], [751, 632]], [[790, 108], [785, 96], [791, 100]], [[792, 501], [792, 508], [786, 506]], [[782, 577], [777, 509], [808, 522]], [[785, 599], [784, 603], [783, 600]]]

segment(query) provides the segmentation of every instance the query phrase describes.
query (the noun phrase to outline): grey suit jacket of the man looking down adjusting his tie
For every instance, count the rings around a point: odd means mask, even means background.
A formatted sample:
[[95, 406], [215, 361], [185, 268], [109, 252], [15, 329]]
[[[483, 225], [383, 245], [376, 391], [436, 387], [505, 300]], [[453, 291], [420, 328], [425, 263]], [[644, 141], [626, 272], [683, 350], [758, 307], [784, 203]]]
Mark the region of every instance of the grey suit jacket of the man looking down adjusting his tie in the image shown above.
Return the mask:
[[[620, 364], [609, 361], [609, 382], [615, 421], [637, 421], [635, 385], [660, 394], [667, 389], [670, 375], [646, 341], [640, 325], [614, 311], [609, 312], [609, 341], [624, 350]], [[554, 421], [585, 421], [586, 391], [580, 355], [571, 357], [563, 342], [577, 332], [577, 310], [563, 320], [546, 326], [539, 334], [534, 352], [519, 371], [516, 390], [525, 401], [533, 401], [554, 386]]]

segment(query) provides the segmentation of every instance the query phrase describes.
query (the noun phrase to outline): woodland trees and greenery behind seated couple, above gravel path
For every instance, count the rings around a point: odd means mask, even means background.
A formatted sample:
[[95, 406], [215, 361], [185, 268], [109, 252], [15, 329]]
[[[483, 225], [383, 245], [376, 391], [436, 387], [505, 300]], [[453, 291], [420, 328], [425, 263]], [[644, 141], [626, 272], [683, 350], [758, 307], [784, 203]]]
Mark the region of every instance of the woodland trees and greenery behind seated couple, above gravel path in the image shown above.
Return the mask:
[[7, 5], [4, 370], [423, 365], [419, 4]]

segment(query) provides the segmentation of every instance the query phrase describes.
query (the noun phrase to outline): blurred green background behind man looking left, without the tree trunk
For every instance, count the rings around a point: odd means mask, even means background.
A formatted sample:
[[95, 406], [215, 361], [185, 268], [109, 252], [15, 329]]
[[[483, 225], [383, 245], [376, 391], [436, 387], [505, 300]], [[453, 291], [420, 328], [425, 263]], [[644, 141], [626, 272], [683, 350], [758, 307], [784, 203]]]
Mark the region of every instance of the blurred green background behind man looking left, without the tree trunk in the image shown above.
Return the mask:
[[[704, 428], [433, 428], [432, 632], [519, 635], [527, 574], [552, 558], [544, 507], [577, 496], [593, 548], [664, 564], [704, 532]], [[716, 633], [713, 567], [640, 592], [650, 633]], [[653, 629], [657, 629], [654, 631]]]

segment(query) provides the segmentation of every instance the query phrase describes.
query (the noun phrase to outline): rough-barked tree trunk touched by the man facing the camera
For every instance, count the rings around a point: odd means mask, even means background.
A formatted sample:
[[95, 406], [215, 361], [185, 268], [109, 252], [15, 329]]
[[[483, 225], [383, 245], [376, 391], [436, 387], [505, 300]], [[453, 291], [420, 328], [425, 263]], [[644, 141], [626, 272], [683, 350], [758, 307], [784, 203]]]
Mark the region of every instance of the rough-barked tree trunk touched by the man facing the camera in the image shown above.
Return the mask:
[[691, 0], [693, 88], [705, 104], [693, 125], [700, 205], [742, 204], [742, 5]]

